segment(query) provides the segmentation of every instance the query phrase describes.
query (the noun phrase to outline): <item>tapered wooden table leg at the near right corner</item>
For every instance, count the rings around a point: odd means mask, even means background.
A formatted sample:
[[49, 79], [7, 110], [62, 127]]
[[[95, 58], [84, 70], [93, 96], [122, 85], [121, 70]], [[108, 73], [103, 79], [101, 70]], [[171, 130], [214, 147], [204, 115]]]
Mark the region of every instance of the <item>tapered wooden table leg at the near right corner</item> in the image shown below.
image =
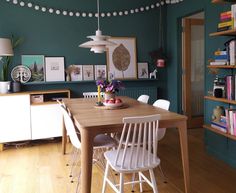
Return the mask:
[[186, 121], [179, 122], [177, 127], [179, 130], [179, 138], [180, 138], [185, 193], [190, 193], [187, 122]]

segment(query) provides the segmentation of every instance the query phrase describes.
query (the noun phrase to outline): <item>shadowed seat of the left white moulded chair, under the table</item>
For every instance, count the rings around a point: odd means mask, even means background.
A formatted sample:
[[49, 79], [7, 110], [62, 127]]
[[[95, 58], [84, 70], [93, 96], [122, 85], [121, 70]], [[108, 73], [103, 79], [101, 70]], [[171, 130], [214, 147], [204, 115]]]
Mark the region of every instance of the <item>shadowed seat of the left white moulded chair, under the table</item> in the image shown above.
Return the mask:
[[117, 146], [117, 141], [109, 135], [99, 134], [94, 138], [94, 149], [96, 148], [107, 148]]

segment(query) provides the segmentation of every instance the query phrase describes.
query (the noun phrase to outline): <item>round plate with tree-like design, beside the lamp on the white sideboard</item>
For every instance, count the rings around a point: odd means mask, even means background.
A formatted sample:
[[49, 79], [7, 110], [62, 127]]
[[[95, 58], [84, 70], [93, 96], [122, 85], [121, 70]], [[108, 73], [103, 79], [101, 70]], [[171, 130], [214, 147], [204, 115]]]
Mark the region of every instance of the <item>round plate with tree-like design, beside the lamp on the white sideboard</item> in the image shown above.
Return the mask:
[[27, 66], [18, 65], [12, 69], [11, 78], [15, 82], [26, 83], [31, 78], [31, 71]]

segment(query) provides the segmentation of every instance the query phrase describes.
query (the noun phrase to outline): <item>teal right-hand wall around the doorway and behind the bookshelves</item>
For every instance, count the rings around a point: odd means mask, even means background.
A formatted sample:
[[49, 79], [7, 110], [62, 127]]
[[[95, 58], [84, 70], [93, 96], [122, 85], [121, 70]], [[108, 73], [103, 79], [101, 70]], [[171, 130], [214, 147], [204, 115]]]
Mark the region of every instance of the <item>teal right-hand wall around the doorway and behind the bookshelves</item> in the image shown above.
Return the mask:
[[[168, 69], [167, 69], [167, 87], [168, 97], [171, 100], [171, 110], [181, 112], [181, 47], [180, 47], [180, 20], [182, 17], [189, 16], [193, 13], [204, 11], [205, 13], [205, 66], [208, 59], [212, 57], [213, 52], [218, 48], [223, 49], [223, 43], [229, 39], [227, 37], [209, 37], [209, 33], [216, 31], [219, 22], [219, 13], [229, 10], [229, 4], [211, 4], [211, 0], [185, 0], [177, 6], [167, 8], [167, 52], [168, 52]], [[221, 70], [222, 74], [229, 71]], [[205, 68], [205, 95], [208, 90], [212, 90], [214, 76]], [[173, 101], [176, 101], [173, 103]], [[205, 122], [211, 120], [212, 110], [216, 105], [228, 107], [228, 104], [205, 100], [204, 114]], [[236, 167], [236, 142], [221, 135], [217, 135], [208, 130], [205, 131], [205, 147], [211, 155]]]

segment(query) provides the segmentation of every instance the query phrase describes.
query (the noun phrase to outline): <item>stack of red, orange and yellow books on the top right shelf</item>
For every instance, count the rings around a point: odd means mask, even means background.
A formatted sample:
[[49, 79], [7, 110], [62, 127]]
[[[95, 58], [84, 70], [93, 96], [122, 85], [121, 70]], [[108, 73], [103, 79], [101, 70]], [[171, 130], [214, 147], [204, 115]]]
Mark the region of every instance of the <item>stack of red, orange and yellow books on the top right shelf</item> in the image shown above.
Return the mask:
[[227, 31], [234, 28], [232, 11], [226, 11], [220, 14], [220, 22], [218, 23], [217, 31]]

